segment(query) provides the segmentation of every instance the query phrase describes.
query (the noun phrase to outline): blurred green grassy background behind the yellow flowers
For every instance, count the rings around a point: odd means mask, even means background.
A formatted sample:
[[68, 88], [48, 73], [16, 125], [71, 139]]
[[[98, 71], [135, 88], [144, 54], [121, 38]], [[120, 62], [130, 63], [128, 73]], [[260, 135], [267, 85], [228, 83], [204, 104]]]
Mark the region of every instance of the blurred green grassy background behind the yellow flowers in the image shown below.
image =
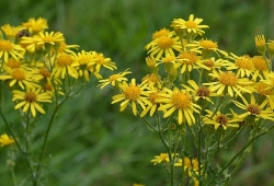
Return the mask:
[[[169, 27], [175, 18], [204, 19], [210, 26], [205, 37], [236, 55], [256, 55], [254, 36], [274, 39], [274, 3], [271, 0], [2, 0], [0, 25], [18, 25], [28, 18], [48, 20], [49, 31], [60, 31], [68, 44], [111, 57], [118, 69], [130, 68], [137, 79], [145, 75], [146, 53], [155, 31]], [[105, 74], [107, 75], [107, 74]], [[111, 105], [111, 89], [101, 91], [96, 80], [61, 108], [50, 133], [50, 160], [46, 185], [53, 186], [147, 186], [165, 185], [165, 171], [149, 161], [164, 149], [130, 111]], [[12, 107], [5, 107], [8, 114]], [[12, 114], [9, 118], [15, 121]], [[43, 126], [35, 137], [37, 146]], [[0, 120], [0, 132], [7, 132]], [[259, 139], [231, 185], [274, 185], [274, 133]], [[241, 137], [237, 142], [242, 142]], [[39, 147], [37, 147], [39, 148]], [[220, 154], [224, 159], [229, 153]], [[0, 148], [0, 185], [11, 185]], [[20, 160], [16, 172], [25, 172]]]

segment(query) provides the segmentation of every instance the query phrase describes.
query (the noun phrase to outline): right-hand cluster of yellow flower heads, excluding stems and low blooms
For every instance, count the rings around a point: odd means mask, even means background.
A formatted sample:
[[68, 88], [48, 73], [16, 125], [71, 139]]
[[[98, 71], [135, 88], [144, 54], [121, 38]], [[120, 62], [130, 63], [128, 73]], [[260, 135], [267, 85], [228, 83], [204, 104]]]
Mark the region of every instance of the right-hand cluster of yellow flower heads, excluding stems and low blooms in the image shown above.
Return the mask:
[[[261, 55], [237, 56], [219, 49], [212, 39], [197, 39], [208, 27], [201, 25], [202, 21], [192, 14], [186, 21], [174, 19], [173, 31], [161, 28], [153, 33], [152, 40], [145, 47], [151, 73], [140, 83], [136, 79], [127, 81], [128, 69], [101, 80], [101, 88], [111, 83], [121, 91], [112, 103], [122, 102], [121, 112], [130, 105], [134, 115], [140, 117], [162, 112], [167, 118], [176, 112], [179, 125], [191, 126], [196, 123], [194, 115], [202, 115], [204, 124], [214, 125], [215, 129], [238, 127], [250, 115], [274, 120], [271, 69], [274, 42], [265, 43], [263, 35], [256, 36]], [[222, 113], [219, 108], [225, 100], [232, 101], [243, 112]]]

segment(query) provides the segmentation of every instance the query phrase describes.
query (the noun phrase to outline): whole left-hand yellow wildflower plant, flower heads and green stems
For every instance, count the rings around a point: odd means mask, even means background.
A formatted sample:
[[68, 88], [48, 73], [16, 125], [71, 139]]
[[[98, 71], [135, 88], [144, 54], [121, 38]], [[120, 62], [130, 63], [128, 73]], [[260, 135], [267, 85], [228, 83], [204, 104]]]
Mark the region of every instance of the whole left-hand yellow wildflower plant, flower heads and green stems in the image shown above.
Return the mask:
[[[24, 159], [30, 173], [25, 181], [16, 181], [14, 167], [11, 168], [14, 185], [41, 185], [47, 164], [45, 149], [59, 108], [79, 94], [92, 77], [101, 79], [102, 69], [116, 69], [111, 58], [67, 45], [62, 33], [47, 28], [45, 19], [32, 18], [18, 26], [5, 24], [0, 31], [0, 119], [9, 133], [1, 135], [0, 146], [12, 146], [7, 149], [11, 152], [9, 164], [15, 166]], [[13, 111], [5, 109], [9, 97]], [[8, 112], [16, 115], [20, 124], [7, 117]], [[33, 137], [39, 123], [46, 124], [44, 139], [34, 152]]]

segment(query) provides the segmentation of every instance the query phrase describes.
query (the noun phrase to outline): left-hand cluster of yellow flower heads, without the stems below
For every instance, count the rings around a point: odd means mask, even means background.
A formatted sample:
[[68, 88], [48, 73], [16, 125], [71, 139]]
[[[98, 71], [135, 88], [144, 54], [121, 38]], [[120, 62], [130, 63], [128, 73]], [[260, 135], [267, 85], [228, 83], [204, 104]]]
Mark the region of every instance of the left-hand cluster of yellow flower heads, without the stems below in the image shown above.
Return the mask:
[[[18, 26], [5, 24], [0, 32], [0, 80], [12, 91], [15, 109], [45, 114], [45, 102], [85, 84], [92, 75], [101, 79], [101, 67], [115, 63], [96, 51], [67, 45], [60, 32], [47, 32], [47, 20], [30, 19]], [[3, 90], [1, 90], [3, 91]]]

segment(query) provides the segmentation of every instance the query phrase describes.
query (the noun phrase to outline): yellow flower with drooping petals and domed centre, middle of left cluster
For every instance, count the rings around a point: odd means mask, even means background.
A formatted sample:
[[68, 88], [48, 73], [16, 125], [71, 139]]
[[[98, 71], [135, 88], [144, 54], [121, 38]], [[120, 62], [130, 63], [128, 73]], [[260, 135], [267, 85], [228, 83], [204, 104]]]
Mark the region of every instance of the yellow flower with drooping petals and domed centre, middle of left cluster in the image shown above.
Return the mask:
[[55, 78], [61, 77], [61, 79], [65, 79], [66, 74], [69, 74], [70, 77], [77, 79], [78, 72], [76, 68], [71, 66], [73, 61], [75, 59], [71, 54], [58, 54], [52, 75]]

